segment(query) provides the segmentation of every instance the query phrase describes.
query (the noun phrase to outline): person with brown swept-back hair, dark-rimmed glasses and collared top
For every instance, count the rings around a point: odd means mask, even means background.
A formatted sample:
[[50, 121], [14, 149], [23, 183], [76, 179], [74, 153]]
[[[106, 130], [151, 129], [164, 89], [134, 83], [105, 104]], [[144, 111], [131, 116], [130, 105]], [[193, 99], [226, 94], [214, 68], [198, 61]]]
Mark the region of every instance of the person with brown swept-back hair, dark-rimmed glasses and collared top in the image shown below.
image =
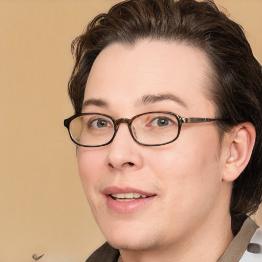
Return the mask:
[[242, 29], [211, 1], [130, 0], [73, 52], [64, 124], [109, 243], [87, 261], [262, 261], [247, 216], [262, 194], [262, 76]]

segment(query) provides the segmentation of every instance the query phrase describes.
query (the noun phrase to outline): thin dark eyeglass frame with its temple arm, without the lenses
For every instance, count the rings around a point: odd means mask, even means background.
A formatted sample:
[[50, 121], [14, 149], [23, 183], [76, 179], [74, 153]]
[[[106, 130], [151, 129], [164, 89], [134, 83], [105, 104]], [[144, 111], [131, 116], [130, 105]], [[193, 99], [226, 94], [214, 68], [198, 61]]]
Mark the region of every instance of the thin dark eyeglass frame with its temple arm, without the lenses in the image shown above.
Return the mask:
[[[146, 114], [154, 114], [154, 113], [163, 113], [163, 114], [170, 114], [174, 117], [176, 117], [178, 119], [178, 134], [177, 136], [171, 140], [171, 141], [168, 141], [166, 143], [162, 143], [162, 144], [152, 144], [152, 145], [149, 145], [149, 144], [144, 144], [144, 143], [141, 143], [140, 141], [138, 141], [136, 139], [136, 137], [133, 135], [133, 131], [132, 131], [132, 123], [135, 119], [137, 119], [138, 117], [140, 116], [143, 116], [143, 115], [146, 115]], [[81, 116], [85, 116], [85, 115], [100, 115], [100, 116], [104, 116], [104, 117], [107, 117], [107, 118], [110, 118], [112, 120], [112, 122], [114, 123], [114, 134], [113, 134], [113, 137], [110, 139], [110, 141], [108, 141], [107, 143], [105, 144], [102, 144], [102, 145], [84, 145], [84, 144], [80, 144], [78, 143], [77, 141], [75, 141], [70, 133], [70, 123], [75, 119], [75, 118], [78, 118], [78, 117], [81, 117]], [[134, 117], [132, 117], [131, 119], [129, 118], [119, 118], [117, 120], [115, 120], [113, 117], [111, 116], [108, 116], [106, 114], [102, 114], [102, 113], [77, 113], [67, 119], [64, 119], [63, 121], [63, 125], [65, 127], [67, 127], [68, 129], [68, 132], [69, 132], [69, 136], [71, 138], [71, 140], [79, 145], [79, 146], [83, 146], [83, 147], [100, 147], [100, 146], [105, 146], [105, 145], [108, 145], [110, 143], [112, 143], [112, 141], [114, 140], [116, 134], [117, 134], [117, 131], [118, 131], [118, 128], [120, 126], [121, 123], [126, 123], [128, 125], [128, 129], [129, 129], [129, 133], [130, 135], [132, 136], [132, 138], [140, 145], [144, 145], [144, 146], [160, 146], [160, 145], [166, 145], [166, 144], [170, 144], [172, 142], [174, 142], [175, 140], [178, 139], [179, 135], [180, 135], [180, 130], [181, 130], [181, 126], [182, 124], [184, 123], [206, 123], [206, 122], [214, 122], [214, 121], [227, 121], [226, 119], [217, 119], [217, 118], [203, 118], [203, 117], [182, 117], [178, 114], [175, 114], [175, 113], [172, 113], [172, 112], [165, 112], [165, 111], [153, 111], [153, 112], [146, 112], [146, 113], [142, 113], [142, 114], [139, 114], [139, 115], [136, 115]]]

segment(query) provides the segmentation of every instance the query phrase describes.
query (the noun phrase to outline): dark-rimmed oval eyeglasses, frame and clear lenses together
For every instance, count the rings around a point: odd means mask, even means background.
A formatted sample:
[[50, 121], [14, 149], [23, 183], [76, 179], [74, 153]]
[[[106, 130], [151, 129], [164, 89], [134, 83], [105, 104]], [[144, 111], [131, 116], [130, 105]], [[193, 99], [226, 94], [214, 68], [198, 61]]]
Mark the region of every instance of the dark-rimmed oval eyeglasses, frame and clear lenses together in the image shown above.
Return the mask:
[[80, 113], [64, 120], [70, 138], [85, 147], [110, 144], [121, 123], [126, 123], [133, 139], [141, 145], [159, 146], [173, 142], [179, 137], [183, 123], [225, 121], [214, 118], [184, 118], [171, 112], [149, 112], [131, 119], [113, 117], [99, 113]]

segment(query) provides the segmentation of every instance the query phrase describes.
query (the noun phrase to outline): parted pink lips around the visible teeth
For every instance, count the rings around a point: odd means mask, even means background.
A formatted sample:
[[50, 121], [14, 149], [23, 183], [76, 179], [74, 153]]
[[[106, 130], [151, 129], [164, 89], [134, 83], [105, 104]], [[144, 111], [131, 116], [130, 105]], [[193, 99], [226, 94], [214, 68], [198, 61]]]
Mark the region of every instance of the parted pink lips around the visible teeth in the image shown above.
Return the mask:
[[[148, 198], [137, 199], [137, 200], [128, 201], [128, 202], [119, 202], [119, 201], [114, 200], [111, 197], [111, 194], [131, 193], [131, 192], [146, 194], [148, 195]], [[107, 187], [102, 191], [102, 193], [105, 195], [106, 205], [108, 206], [108, 208], [110, 208], [111, 210], [117, 213], [136, 212], [148, 206], [157, 197], [155, 193], [146, 192], [146, 191], [143, 191], [137, 188], [132, 188], [132, 187], [124, 187], [124, 188]]]

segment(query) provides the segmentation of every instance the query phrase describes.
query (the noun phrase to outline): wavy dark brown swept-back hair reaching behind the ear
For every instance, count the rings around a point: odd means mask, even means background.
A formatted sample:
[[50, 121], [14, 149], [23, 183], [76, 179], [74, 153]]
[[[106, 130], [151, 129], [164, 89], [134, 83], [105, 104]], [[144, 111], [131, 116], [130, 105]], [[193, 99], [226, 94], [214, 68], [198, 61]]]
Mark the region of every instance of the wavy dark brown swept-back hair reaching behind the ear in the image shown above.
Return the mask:
[[[76, 113], [81, 112], [86, 80], [93, 62], [108, 44], [134, 45], [138, 40], [183, 42], [203, 50], [210, 61], [210, 98], [221, 137], [234, 125], [251, 122], [256, 141], [251, 160], [234, 181], [231, 216], [254, 213], [262, 195], [262, 75], [241, 26], [219, 11], [212, 1], [129, 0], [95, 17], [72, 43], [75, 67], [69, 95]], [[234, 230], [233, 230], [234, 231]]]

